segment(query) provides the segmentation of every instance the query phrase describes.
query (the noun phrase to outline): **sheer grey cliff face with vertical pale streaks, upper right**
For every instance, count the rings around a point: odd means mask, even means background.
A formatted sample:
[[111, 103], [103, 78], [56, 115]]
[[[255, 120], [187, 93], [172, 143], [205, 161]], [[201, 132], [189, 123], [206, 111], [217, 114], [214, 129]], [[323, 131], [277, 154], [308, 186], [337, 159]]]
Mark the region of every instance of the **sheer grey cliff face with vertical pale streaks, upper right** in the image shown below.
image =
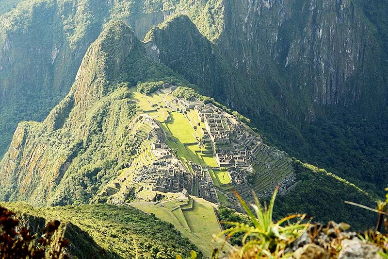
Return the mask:
[[357, 1], [227, 0], [225, 12], [220, 51], [284, 111], [293, 98], [304, 108], [386, 104], [386, 48]]

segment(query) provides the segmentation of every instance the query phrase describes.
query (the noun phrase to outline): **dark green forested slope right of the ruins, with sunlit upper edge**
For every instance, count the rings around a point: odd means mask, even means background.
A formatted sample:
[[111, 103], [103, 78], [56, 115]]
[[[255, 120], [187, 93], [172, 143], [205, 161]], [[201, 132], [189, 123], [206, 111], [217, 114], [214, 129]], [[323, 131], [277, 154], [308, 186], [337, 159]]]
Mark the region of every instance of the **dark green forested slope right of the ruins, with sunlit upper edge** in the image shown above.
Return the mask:
[[[357, 201], [372, 206], [374, 197], [338, 176], [296, 160], [296, 184], [275, 202], [275, 218], [288, 213], [306, 213], [320, 222], [346, 222], [354, 230], [374, 226], [373, 213], [344, 203]], [[325, 201], [330, 201], [327, 203]]]

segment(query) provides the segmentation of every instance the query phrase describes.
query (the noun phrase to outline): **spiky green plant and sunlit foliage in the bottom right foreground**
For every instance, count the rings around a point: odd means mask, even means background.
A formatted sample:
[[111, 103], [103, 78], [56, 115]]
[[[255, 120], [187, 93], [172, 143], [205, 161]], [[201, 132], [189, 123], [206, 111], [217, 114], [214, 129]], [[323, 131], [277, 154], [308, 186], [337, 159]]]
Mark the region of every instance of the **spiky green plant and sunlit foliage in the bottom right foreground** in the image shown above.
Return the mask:
[[[310, 167], [305, 165], [306, 167]], [[314, 169], [316, 170], [316, 169]], [[317, 170], [316, 170], [317, 171]], [[273, 223], [272, 213], [275, 204], [275, 195], [277, 188], [269, 203], [269, 207], [264, 205], [261, 207], [259, 200], [255, 197], [255, 204], [252, 204], [254, 212], [246, 205], [246, 203], [238, 196], [242, 207], [244, 207], [247, 215], [238, 214], [225, 207], [219, 207], [218, 214], [223, 221], [224, 231], [218, 236], [228, 234], [226, 239], [229, 241], [226, 243], [229, 246], [228, 256], [230, 259], [253, 259], [253, 258], [294, 258], [299, 257], [300, 252], [306, 258], [339, 258], [342, 256], [352, 254], [354, 249], [359, 244], [354, 244], [351, 247], [350, 252], [345, 248], [343, 242], [352, 239], [354, 242], [366, 243], [366, 245], [374, 246], [374, 249], [378, 249], [377, 252], [382, 258], [388, 257], [388, 224], [386, 218], [388, 217], [387, 204], [388, 194], [386, 194], [385, 201], [378, 201], [377, 208], [367, 207], [361, 204], [346, 202], [350, 205], [361, 207], [363, 209], [378, 213], [377, 226], [375, 229], [370, 229], [364, 233], [358, 233], [357, 237], [349, 236], [350, 225], [344, 222], [336, 223], [330, 221], [328, 224], [307, 224], [304, 223], [306, 215], [291, 215], [281, 219], [276, 224]], [[388, 191], [388, 188], [386, 189]], [[376, 217], [377, 218], [377, 217]], [[288, 226], [281, 226], [288, 223]], [[385, 226], [385, 234], [381, 233], [381, 227]], [[290, 250], [298, 242], [294, 242], [302, 233], [306, 233], [308, 241], [302, 238], [299, 242], [302, 242], [302, 246], [299, 246], [297, 250]], [[324, 238], [322, 238], [324, 237]], [[225, 243], [224, 243], [225, 244]], [[232, 247], [231, 245], [237, 245]], [[306, 250], [305, 250], [306, 249]], [[346, 249], [346, 251], [345, 251]], [[309, 252], [306, 252], [309, 250]], [[316, 250], [316, 251], [314, 251]], [[362, 249], [361, 249], [362, 250]], [[369, 252], [369, 249], [366, 249]], [[215, 249], [216, 253], [217, 250]], [[344, 253], [342, 253], [344, 252]], [[358, 257], [369, 257], [364, 252], [356, 252]], [[377, 257], [377, 255], [375, 256]]]

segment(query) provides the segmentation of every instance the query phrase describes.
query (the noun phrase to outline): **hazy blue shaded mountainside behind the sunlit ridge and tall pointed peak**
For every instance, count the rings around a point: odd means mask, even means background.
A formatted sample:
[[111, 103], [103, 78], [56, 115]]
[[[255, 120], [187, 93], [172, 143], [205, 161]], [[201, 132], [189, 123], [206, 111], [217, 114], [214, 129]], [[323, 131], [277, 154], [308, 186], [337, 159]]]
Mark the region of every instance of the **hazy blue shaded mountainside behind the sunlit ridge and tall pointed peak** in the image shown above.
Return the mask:
[[[147, 35], [147, 52], [160, 51], [153, 58], [249, 117], [291, 155], [371, 191], [387, 184], [385, 2], [0, 3], [1, 154], [18, 122], [42, 121], [67, 94], [87, 48], [109, 20], [124, 20], [142, 40], [152, 26], [186, 14], [191, 21], [181, 18], [173, 30], [155, 28], [153, 38]], [[185, 49], [183, 42], [191, 44]]]

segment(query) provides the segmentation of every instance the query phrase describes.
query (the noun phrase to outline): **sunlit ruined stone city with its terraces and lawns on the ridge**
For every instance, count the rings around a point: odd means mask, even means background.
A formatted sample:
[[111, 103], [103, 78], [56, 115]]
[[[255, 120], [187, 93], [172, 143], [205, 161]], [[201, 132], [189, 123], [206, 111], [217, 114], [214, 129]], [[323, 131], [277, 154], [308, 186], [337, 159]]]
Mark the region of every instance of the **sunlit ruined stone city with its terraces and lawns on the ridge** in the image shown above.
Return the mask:
[[157, 192], [185, 190], [231, 206], [238, 204], [231, 190], [251, 200], [251, 190], [265, 196], [276, 185], [287, 189], [294, 184], [287, 154], [265, 145], [258, 134], [215, 105], [194, 96], [177, 98], [175, 92], [189, 90], [176, 88], [166, 86], [150, 95], [131, 92], [141, 113], [128, 126], [135, 154], [101, 197], [152, 200]]

